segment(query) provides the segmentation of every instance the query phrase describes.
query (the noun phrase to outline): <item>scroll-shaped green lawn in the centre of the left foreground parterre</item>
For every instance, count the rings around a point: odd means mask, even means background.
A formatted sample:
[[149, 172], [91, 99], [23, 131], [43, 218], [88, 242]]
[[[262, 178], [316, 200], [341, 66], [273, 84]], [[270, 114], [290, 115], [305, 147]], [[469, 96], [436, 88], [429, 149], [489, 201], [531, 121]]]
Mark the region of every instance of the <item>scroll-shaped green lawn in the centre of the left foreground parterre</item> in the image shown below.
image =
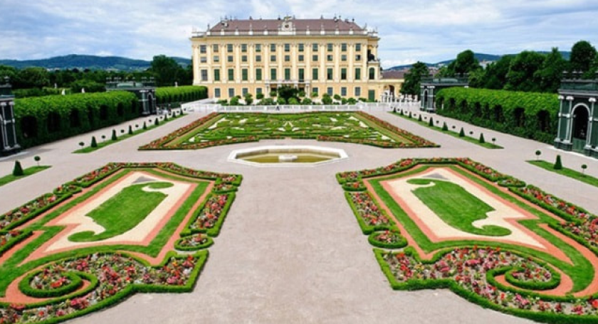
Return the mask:
[[150, 183], [131, 185], [104, 202], [88, 215], [105, 228], [104, 232], [80, 232], [68, 239], [73, 242], [96, 242], [125, 233], [137, 226], [157, 207], [167, 195], [146, 192], [144, 188], [160, 189], [172, 187], [172, 183]]

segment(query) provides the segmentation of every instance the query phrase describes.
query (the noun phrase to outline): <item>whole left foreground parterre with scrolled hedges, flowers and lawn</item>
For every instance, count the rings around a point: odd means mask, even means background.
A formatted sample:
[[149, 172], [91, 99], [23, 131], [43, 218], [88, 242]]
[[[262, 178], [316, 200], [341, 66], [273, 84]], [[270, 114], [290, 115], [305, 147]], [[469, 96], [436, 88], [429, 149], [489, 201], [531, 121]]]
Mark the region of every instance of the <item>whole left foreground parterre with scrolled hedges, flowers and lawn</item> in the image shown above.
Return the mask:
[[109, 163], [0, 215], [0, 323], [192, 291], [241, 175]]

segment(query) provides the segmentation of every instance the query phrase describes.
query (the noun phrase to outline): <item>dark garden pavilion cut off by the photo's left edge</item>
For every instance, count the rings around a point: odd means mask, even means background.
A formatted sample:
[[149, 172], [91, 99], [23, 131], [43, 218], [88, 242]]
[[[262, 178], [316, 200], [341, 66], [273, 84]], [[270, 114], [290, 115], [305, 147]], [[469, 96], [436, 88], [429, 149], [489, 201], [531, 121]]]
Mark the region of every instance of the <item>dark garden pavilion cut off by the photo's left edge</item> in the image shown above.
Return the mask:
[[16, 139], [14, 117], [14, 95], [8, 78], [0, 80], [0, 156], [7, 156], [21, 150]]

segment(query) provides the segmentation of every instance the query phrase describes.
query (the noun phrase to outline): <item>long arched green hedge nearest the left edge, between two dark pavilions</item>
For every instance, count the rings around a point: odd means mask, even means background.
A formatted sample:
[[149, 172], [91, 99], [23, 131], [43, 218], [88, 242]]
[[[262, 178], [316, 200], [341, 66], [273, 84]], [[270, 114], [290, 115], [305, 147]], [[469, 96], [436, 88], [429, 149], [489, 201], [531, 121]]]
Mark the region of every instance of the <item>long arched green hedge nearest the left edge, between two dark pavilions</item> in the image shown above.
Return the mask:
[[36, 146], [139, 117], [130, 92], [102, 92], [16, 99], [16, 131], [22, 147]]

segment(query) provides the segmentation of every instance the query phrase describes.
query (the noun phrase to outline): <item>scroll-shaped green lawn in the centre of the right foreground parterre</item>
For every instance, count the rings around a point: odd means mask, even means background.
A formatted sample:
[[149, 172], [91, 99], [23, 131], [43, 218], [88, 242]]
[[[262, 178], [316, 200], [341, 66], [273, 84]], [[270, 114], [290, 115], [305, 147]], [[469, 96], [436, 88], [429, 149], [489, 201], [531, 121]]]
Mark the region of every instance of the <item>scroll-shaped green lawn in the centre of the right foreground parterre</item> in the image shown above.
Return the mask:
[[485, 225], [482, 228], [472, 225], [476, 220], [488, 218], [488, 212], [494, 209], [468, 193], [460, 185], [440, 180], [413, 179], [408, 183], [415, 185], [429, 185], [413, 190], [421, 202], [424, 202], [446, 224], [463, 232], [486, 236], [505, 236], [510, 230], [495, 225]]

